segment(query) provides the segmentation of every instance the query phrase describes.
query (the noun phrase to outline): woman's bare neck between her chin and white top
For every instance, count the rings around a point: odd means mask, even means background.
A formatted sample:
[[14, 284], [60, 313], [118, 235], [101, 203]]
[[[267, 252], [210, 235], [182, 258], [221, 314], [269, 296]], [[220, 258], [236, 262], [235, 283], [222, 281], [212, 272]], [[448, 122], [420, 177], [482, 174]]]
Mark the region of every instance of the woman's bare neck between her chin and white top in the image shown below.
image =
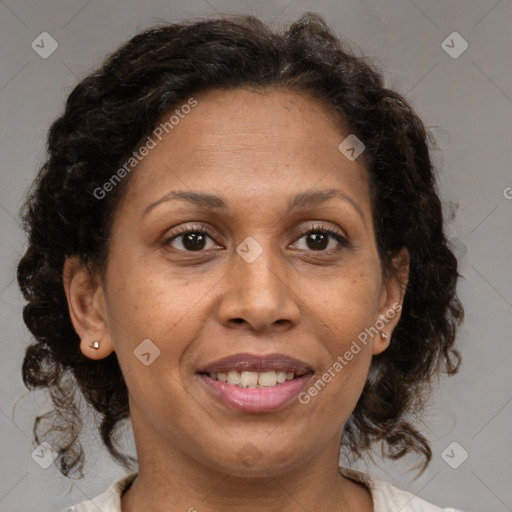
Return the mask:
[[244, 471], [241, 476], [222, 464], [206, 464], [201, 457], [181, 449], [179, 442], [170, 444], [169, 439], [137, 428], [140, 426], [135, 421], [139, 471], [122, 496], [122, 512], [372, 510], [366, 487], [338, 471], [341, 434], [312, 457], [288, 467], [261, 470], [256, 469], [256, 463], [254, 472]]

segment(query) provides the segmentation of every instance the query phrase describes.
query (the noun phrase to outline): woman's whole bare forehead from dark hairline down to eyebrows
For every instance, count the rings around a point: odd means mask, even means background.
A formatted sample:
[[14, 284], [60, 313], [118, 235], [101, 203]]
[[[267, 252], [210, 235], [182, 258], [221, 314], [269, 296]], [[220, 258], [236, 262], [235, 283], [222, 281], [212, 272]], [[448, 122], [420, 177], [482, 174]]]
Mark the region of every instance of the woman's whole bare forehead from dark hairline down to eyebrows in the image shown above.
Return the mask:
[[286, 89], [214, 90], [194, 99], [187, 114], [178, 105], [162, 117], [181, 114], [138, 164], [129, 188], [142, 202], [188, 188], [262, 204], [335, 186], [367, 201], [363, 158], [350, 161], [339, 151], [348, 132], [333, 107]]

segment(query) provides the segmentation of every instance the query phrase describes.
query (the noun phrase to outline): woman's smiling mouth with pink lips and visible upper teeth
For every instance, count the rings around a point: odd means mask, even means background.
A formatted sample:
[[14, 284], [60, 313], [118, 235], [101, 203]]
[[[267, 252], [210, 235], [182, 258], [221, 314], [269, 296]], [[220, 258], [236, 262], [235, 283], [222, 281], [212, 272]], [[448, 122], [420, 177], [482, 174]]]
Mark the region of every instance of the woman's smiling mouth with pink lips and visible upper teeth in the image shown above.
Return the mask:
[[314, 371], [297, 359], [273, 354], [237, 354], [197, 372], [209, 396], [245, 413], [273, 412], [289, 405]]

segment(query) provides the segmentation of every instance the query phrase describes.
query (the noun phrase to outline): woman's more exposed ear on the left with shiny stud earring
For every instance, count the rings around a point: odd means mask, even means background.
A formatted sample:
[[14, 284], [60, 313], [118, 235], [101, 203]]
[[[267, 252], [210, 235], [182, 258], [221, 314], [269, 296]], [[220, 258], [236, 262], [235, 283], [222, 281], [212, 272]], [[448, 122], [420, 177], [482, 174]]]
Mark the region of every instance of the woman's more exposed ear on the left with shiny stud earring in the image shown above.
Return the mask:
[[[110, 340], [103, 287], [78, 256], [66, 258], [63, 284], [69, 315], [80, 337], [80, 350], [91, 359], [103, 359], [114, 351]], [[89, 344], [98, 341], [99, 348]]]

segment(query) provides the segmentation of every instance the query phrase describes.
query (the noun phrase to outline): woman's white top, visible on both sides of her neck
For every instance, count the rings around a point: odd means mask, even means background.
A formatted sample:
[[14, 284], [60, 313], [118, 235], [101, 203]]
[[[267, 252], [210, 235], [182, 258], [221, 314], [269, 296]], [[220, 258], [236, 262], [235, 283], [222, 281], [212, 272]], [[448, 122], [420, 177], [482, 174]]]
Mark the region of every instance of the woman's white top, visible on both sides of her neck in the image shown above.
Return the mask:
[[[367, 473], [344, 467], [340, 467], [339, 471], [343, 476], [360, 482], [368, 488], [373, 499], [374, 512], [396, 512], [397, 510], [400, 512], [462, 512], [454, 508], [440, 508], [427, 503], [414, 494], [402, 491]], [[122, 512], [121, 495], [136, 476], [137, 473], [130, 473], [116, 480], [103, 494], [68, 508], [65, 512]]]

